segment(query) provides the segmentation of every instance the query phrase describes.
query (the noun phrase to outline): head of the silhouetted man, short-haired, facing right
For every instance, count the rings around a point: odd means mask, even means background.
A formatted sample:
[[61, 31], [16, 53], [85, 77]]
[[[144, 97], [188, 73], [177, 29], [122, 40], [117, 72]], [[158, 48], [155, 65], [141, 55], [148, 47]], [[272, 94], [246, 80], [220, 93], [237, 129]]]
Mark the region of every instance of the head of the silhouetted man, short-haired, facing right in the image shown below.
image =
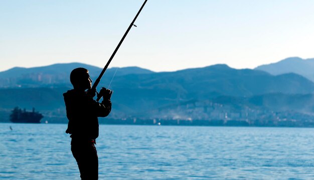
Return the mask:
[[90, 79], [88, 70], [83, 67], [72, 70], [70, 81], [75, 89], [86, 90], [92, 87], [92, 79]]

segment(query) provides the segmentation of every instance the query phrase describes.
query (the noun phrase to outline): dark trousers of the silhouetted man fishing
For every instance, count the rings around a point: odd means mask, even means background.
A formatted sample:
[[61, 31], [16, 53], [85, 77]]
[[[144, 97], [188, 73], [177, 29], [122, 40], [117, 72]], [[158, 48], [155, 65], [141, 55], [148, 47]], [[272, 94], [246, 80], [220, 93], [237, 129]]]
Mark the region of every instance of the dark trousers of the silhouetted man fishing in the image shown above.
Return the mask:
[[98, 156], [95, 144], [91, 141], [71, 141], [71, 151], [81, 173], [81, 179], [98, 179]]

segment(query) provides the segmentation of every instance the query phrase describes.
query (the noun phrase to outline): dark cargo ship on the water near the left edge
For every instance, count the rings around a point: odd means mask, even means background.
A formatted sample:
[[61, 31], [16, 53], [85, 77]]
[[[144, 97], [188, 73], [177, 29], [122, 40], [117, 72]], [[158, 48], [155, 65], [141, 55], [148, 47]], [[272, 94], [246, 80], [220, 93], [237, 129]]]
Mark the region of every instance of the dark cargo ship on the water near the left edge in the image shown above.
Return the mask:
[[10, 115], [10, 120], [15, 123], [40, 123], [43, 117], [43, 114], [35, 112], [34, 107], [31, 112], [26, 111], [25, 108], [22, 110], [19, 107], [15, 107]]

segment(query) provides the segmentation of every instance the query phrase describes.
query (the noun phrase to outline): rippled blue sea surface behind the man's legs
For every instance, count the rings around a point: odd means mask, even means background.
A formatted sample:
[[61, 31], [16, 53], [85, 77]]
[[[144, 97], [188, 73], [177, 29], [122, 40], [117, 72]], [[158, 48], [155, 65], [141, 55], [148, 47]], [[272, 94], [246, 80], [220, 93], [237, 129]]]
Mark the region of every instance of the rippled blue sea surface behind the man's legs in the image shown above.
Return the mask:
[[[80, 179], [65, 129], [0, 123], [0, 178]], [[314, 179], [314, 128], [100, 125], [96, 147], [99, 179]]]

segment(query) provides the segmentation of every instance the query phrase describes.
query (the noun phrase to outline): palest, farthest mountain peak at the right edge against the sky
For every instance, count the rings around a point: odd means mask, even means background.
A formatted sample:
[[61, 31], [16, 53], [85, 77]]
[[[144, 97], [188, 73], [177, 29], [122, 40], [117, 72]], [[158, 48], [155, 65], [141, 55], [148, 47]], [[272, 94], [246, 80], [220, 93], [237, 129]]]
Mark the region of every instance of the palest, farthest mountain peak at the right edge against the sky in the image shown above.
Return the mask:
[[276, 63], [260, 65], [255, 69], [264, 70], [273, 75], [293, 72], [314, 81], [314, 58], [289, 57]]

